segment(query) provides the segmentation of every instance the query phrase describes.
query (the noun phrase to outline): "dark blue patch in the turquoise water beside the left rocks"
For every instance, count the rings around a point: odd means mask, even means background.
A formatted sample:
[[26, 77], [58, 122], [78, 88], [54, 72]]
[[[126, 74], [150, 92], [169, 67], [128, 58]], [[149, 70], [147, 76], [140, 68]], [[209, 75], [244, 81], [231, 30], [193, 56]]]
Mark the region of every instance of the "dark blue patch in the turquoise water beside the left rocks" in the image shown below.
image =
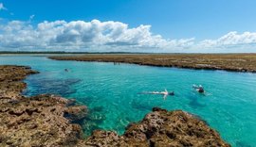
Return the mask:
[[71, 89], [71, 85], [79, 83], [80, 79], [46, 79], [32, 78], [27, 80], [30, 89], [23, 92], [24, 95], [37, 95], [44, 93], [58, 94], [67, 97], [76, 90]]

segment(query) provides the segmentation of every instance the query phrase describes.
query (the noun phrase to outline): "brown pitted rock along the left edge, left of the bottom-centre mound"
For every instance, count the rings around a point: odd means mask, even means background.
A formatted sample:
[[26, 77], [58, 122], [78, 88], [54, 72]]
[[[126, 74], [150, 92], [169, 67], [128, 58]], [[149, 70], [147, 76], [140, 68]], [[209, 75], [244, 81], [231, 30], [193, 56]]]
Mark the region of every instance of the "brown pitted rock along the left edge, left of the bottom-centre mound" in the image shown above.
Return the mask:
[[86, 115], [86, 106], [55, 95], [24, 97], [20, 80], [37, 73], [23, 66], [0, 66], [0, 146], [73, 146], [82, 129], [71, 123]]

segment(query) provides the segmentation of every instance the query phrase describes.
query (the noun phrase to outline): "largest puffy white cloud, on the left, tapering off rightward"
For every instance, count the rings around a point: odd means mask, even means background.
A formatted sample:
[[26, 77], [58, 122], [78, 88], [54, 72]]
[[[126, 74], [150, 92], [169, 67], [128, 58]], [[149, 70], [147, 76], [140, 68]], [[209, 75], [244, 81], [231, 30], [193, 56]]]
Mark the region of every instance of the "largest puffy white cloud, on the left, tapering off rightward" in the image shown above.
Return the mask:
[[37, 26], [11, 21], [0, 26], [0, 47], [140, 51], [180, 48], [192, 43], [191, 39], [164, 40], [153, 35], [150, 28], [150, 25], [129, 28], [128, 24], [98, 20], [43, 22]]

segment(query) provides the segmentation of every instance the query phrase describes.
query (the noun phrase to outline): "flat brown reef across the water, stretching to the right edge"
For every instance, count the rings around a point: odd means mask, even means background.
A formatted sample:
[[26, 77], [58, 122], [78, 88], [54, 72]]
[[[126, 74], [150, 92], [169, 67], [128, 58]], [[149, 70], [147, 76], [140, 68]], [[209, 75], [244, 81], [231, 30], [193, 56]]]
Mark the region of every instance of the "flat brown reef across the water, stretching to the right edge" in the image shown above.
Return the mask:
[[256, 73], [256, 54], [139, 54], [49, 57], [57, 60], [130, 63], [195, 70]]

